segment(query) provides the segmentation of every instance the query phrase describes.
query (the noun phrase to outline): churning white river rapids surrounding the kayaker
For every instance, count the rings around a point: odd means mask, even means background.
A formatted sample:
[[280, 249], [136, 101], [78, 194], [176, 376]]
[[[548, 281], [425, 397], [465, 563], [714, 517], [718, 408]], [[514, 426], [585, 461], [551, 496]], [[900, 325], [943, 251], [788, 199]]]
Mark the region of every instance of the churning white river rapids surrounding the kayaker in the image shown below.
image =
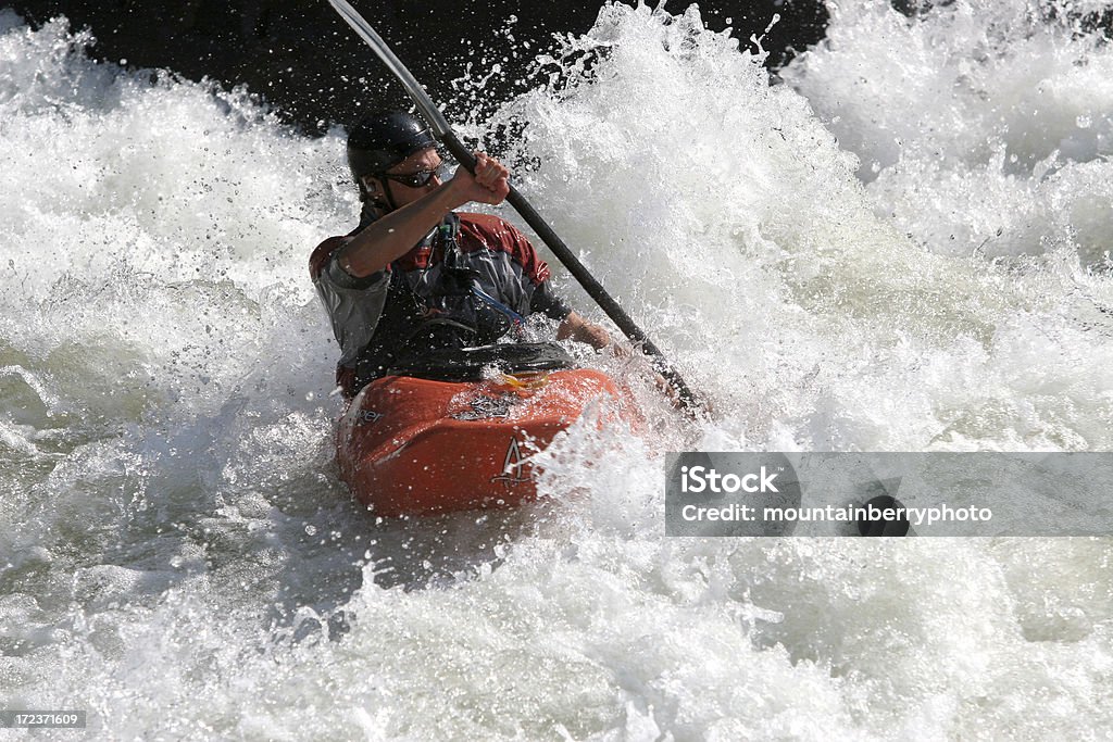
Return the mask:
[[0, 10], [0, 708], [97, 739], [1113, 728], [1109, 540], [662, 535], [670, 449], [1111, 448], [1113, 50], [1070, 19], [840, 3], [770, 85], [696, 10], [603, 7], [463, 131], [528, 122], [519, 186], [715, 419], [641, 383], [648, 433], [574, 426], [538, 505], [388, 523], [337, 478], [306, 267], [355, 218], [343, 129]]

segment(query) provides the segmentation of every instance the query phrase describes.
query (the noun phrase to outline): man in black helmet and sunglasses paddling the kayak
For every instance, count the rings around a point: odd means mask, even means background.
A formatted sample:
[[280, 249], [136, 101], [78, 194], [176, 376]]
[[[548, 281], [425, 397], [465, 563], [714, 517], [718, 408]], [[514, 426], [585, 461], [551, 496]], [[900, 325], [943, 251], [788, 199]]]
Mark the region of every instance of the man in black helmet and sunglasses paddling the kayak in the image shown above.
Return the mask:
[[453, 211], [503, 201], [510, 172], [496, 159], [479, 152], [474, 175], [457, 168], [444, 180], [429, 127], [398, 112], [356, 125], [347, 159], [363, 202], [359, 226], [309, 258], [341, 346], [336, 382], [346, 396], [400, 360], [521, 334], [535, 311], [560, 321], [558, 339], [610, 343], [553, 294], [549, 267], [518, 229]]

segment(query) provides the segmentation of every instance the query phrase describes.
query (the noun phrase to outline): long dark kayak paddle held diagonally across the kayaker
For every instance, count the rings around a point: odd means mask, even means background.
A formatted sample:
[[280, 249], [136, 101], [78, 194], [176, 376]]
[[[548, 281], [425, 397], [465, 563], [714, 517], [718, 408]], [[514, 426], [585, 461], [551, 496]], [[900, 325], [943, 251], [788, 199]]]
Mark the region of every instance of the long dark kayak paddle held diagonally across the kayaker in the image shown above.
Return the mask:
[[[449, 121], [444, 118], [441, 110], [433, 103], [433, 100], [425, 92], [425, 89], [421, 87], [410, 70], [394, 56], [386, 42], [375, 32], [375, 29], [371, 28], [366, 20], [356, 12], [355, 8], [348, 4], [347, 0], [328, 0], [337, 13], [341, 14], [348, 26], [351, 26], [359, 37], [367, 42], [367, 44], [374, 50], [383, 63], [386, 65], [387, 69], [394, 73], [402, 87], [406, 89], [410, 97], [413, 98], [414, 103], [421, 111], [422, 116], [429, 121], [433, 129], [433, 133], [444, 142], [452, 156], [465, 167], [469, 171], [475, 170], [475, 157], [472, 152], [464, 147], [464, 145], [456, 138], [456, 135], [452, 131], [452, 127], [449, 126]], [[680, 374], [676, 368], [668, 362], [664, 354], [653, 344], [652, 340], [638, 327], [637, 324], [630, 318], [630, 316], [618, 305], [618, 303], [611, 298], [610, 294], [595, 280], [583, 264], [572, 255], [572, 251], [564, 245], [564, 241], [556, 236], [541, 215], [525, 200], [518, 190], [511, 186], [510, 195], [506, 197], [510, 205], [522, 215], [525, 222], [533, 228], [539, 237], [549, 246], [553, 255], [568, 268], [569, 273], [575, 277], [583, 289], [591, 296], [592, 299], [607, 313], [614, 324], [618, 326], [622, 334], [630, 338], [630, 342], [636, 346], [642, 348], [642, 352], [651, 356], [652, 363], [657, 372], [664, 377], [666, 382], [672, 387], [673, 392], [677, 394], [677, 398], [680, 404], [683, 405], [684, 409], [689, 413], [695, 414], [696, 412], [706, 412], [699, 399], [688, 387], [684, 380], [680, 377]]]

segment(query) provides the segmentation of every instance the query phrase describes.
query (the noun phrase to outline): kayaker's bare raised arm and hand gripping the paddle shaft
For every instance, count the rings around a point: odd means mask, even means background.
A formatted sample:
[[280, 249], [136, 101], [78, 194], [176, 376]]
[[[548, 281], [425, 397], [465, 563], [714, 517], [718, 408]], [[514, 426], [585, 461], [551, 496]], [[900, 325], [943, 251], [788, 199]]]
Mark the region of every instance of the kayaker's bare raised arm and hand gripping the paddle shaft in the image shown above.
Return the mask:
[[449, 182], [384, 215], [353, 236], [337, 254], [341, 267], [356, 278], [370, 276], [408, 253], [449, 211], [470, 201], [501, 204], [510, 191], [509, 171], [482, 152], [476, 152], [476, 175], [457, 168]]

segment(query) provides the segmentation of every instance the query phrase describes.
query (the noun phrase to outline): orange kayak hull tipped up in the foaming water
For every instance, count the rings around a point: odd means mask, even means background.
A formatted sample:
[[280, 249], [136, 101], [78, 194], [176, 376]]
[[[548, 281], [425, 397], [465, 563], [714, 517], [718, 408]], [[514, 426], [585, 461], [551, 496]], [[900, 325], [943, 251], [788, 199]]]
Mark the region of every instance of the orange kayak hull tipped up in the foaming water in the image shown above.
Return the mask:
[[[592, 400], [623, 395], [605, 374], [568, 367], [571, 359], [559, 346], [559, 362], [552, 346], [529, 347], [549, 360], [523, 362], [521, 346], [486, 346], [454, 352], [480, 352], [464, 368], [392, 369], [365, 386], [337, 432], [341, 475], [356, 497], [382, 516], [534, 498], [530, 456]], [[504, 348], [519, 357], [501, 358]]]

